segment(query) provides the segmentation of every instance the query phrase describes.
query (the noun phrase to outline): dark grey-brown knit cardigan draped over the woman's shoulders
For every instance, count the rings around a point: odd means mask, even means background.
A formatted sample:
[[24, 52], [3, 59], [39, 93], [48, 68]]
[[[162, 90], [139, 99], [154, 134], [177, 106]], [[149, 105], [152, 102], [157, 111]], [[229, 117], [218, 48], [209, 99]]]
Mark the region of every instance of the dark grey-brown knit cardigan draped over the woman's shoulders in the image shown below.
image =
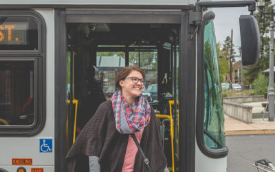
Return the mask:
[[[98, 156], [101, 172], [122, 171], [129, 134], [115, 128], [111, 101], [102, 103], [87, 122], [66, 156], [69, 172], [89, 172], [89, 156]], [[140, 145], [152, 171], [164, 171], [166, 158], [159, 136], [159, 124], [151, 107], [151, 120], [144, 128]], [[134, 171], [147, 171], [139, 151], [135, 155]]]

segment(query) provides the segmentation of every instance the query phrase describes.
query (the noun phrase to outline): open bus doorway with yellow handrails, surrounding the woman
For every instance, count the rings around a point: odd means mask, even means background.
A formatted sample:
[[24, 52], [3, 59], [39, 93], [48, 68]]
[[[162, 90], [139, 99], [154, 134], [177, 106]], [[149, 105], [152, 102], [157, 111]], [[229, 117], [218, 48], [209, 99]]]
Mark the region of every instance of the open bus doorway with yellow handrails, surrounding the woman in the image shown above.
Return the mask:
[[92, 15], [94, 12], [85, 16], [82, 13], [68, 11], [66, 19], [67, 149], [100, 103], [115, 92], [119, 70], [137, 65], [146, 74], [142, 94], [159, 118], [168, 168], [178, 170], [181, 11], [170, 16], [165, 12], [129, 15], [116, 11], [107, 17], [102, 15], [104, 12], [97, 17]]

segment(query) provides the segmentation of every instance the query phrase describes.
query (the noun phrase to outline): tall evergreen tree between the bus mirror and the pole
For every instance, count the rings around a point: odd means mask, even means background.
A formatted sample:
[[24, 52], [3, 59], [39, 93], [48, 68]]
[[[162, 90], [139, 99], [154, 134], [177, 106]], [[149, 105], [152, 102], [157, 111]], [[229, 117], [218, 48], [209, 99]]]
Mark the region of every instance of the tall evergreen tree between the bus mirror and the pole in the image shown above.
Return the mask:
[[[262, 12], [271, 12], [274, 5], [272, 2], [265, 2], [265, 7], [263, 8]], [[261, 14], [258, 10], [256, 12], [256, 19], [258, 21], [260, 36], [261, 36], [261, 58], [256, 65], [245, 67], [244, 69], [244, 77], [245, 80], [249, 84], [253, 83], [258, 75], [263, 72], [263, 70], [268, 69], [270, 67], [270, 15], [268, 14]]]

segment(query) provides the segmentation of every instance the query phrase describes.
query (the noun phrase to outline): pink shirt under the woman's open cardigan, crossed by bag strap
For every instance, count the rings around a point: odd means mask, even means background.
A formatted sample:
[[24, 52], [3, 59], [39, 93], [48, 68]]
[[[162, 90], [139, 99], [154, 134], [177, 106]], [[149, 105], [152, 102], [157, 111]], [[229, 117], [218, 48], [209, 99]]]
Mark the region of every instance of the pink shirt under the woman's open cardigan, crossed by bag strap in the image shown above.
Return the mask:
[[[142, 140], [142, 133], [143, 131], [135, 132], [135, 137], [137, 138], [137, 141], [139, 143], [140, 140]], [[122, 166], [122, 172], [133, 172], [133, 166], [135, 165], [135, 155], [137, 154], [137, 151], [137, 145], [130, 135], [125, 153], [124, 163]]]

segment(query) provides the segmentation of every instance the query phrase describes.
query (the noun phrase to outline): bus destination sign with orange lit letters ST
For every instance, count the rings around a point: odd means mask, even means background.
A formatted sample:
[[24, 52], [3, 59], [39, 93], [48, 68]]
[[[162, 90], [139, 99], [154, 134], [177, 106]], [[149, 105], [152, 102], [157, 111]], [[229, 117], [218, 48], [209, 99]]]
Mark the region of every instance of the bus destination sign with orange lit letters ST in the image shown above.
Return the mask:
[[0, 45], [26, 45], [28, 23], [4, 22], [0, 25]]

